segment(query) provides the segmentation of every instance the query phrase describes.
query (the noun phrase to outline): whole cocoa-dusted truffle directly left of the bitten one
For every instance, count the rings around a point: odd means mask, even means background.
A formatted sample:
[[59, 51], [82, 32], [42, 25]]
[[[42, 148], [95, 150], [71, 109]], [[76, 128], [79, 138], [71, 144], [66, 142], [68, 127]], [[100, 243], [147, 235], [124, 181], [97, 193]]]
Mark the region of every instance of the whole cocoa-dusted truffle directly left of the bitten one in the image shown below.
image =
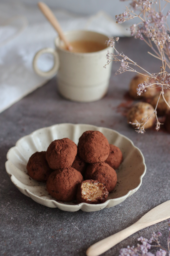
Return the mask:
[[58, 201], [69, 202], [76, 199], [77, 187], [83, 182], [83, 176], [76, 169], [55, 170], [47, 180], [47, 191]]

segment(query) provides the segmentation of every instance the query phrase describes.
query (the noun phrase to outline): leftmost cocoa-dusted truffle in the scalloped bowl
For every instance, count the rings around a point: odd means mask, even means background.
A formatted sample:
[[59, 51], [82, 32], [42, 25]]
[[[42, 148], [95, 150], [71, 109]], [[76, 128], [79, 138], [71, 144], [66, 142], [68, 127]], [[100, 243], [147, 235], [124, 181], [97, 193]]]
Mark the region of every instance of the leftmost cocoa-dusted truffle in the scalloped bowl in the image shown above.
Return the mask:
[[53, 172], [48, 166], [45, 159], [46, 151], [35, 152], [29, 159], [27, 164], [28, 174], [32, 179], [38, 181], [47, 180], [49, 175]]

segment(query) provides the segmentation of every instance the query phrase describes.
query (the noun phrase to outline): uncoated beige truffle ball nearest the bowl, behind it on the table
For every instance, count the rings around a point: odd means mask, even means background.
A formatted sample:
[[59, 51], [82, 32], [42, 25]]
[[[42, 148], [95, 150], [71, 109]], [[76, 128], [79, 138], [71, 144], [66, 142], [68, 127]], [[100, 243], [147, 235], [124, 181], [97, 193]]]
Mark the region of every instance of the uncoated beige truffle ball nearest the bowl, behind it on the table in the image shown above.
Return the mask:
[[[148, 116], [150, 116], [154, 112], [154, 108], [151, 104], [146, 102], [138, 102], [130, 108], [127, 113], [127, 122], [136, 123], [145, 123], [147, 121]], [[148, 122], [145, 126], [145, 129], [151, 127], [155, 123], [155, 113], [148, 119]], [[135, 124], [132, 124], [134, 128], [137, 128]]]

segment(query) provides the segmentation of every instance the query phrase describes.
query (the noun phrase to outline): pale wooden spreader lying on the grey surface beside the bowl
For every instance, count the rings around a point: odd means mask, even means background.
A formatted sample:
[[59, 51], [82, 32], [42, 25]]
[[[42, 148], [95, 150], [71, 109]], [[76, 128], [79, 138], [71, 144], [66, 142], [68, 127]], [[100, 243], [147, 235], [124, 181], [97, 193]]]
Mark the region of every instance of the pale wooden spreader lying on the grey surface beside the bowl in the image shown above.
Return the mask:
[[168, 218], [170, 218], [170, 200], [150, 210], [132, 226], [93, 244], [87, 249], [86, 254], [87, 256], [98, 256], [135, 232]]

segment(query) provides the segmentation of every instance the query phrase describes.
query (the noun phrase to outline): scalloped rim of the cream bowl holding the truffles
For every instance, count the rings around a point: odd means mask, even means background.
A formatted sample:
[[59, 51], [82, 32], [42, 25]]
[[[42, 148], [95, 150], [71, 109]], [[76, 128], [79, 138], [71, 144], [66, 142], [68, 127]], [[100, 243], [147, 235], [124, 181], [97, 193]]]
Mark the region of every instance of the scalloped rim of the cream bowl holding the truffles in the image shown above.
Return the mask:
[[[13, 183], [18, 189], [19, 189], [20, 187], [17, 186], [17, 184], [15, 184], [15, 179], [17, 179], [17, 178], [15, 177], [14, 174], [11, 174], [11, 173], [10, 173], [10, 170], [9, 170], [10, 168], [8, 167], [8, 163], [12, 163], [12, 162], [10, 161], [10, 158], [9, 158], [10, 151], [12, 151], [15, 147], [17, 147], [17, 145], [20, 143], [21, 140], [23, 140], [23, 139], [26, 138], [26, 137], [30, 137], [30, 136], [34, 135], [34, 133], [36, 133], [37, 131], [41, 131], [41, 130], [45, 130], [45, 129], [52, 129], [53, 127], [57, 127], [57, 126], [60, 126], [60, 125], [73, 125], [73, 126], [82, 125], [82, 126], [91, 126], [91, 127], [97, 128], [97, 129], [100, 129], [100, 128], [102, 129], [102, 128], [104, 128], [104, 129], [107, 129], [107, 130], [110, 130], [110, 131], [116, 133], [117, 135], [119, 135], [119, 136], [121, 136], [121, 137], [124, 137], [126, 140], [128, 140], [128, 141], [132, 144], [132, 146], [133, 146], [134, 148], [136, 148], [136, 149], [139, 151], [139, 153], [140, 153], [140, 155], [141, 155], [141, 157], [142, 157], [142, 164], [144, 165], [145, 168], [144, 168], [143, 174], [142, 174], [141, 176], [139, 176], [140, 183], [139, 183], [139, 185], [138, 185], [136, 188], [129, 190], [129, 191], [127, 192], [127, 194], [124, 195], [124, 196], [122, 196], [122, 197], [111, 198], [111, 199], [108, 199], [108, 200], [106, 200], [104, 203], [101, 203], [101, 204], [87, 204], [87, 203], [84, 203], [84, 202], [83, 202], [83, 203], [76, 204], [76, 205], [68, 205], [68, 204], [63, 204], [63, 203], [61, 203], [61, 202], [55, 201], [55, 200], [53, 200], [53, 199], [41, 198], [41, 200], [43, 200], [43, 201], [48, 201], [48, 200], [49, 200], [49, 201], [52, 201], [52, 202], [54, 203], [54, 205], [56, 205], [55, 207], [58, 207], [58, 206], [59, 206], [58, 208], [60, 208], [60, 206], [67, 206], [67, 208], [77, 208], [77, 206], [78, 206], [78, 208], [81, 209], [82, 206], [85, 205], [85, 206], [87, 206], [88, 208], [94, 208], [94, 206], [102, 206], [102, 209], [103, 209], [103, 208], [107, 207], [107, 205], [109, 204], [110, 201], [114, 201], [114, 202], [119, 201], [119, 200], [124, 201], [128, 196], [130, 196], [131, 194], [133, 194], [135, 191], [137, 191], [137, 190], [139, 189], [139, 187], [140, 187], [141, 184], [142, 184], [142, 178], [143, 178], [143, 176], [144, 176], [145, 173], [146, 173], [146, 164], [145, 164], [145, 158], [144, 158], [144, 156], [143, 156], [141, 150], [140, 150], [138, 147], [136, 147], [136, 146], [134, 145], [134, 143], [133, 143], [132, 140], [130, 140], [130, 139], [129, 139], [128, 137], [126, 137], [125, 135], [123, 135], [123, 134], [121, 134], [121, 133], [119, 133], [119, 132], [117, 132], [117, 131], [115, 131], [115, 130], [113, 130], [113, 129], [107, 128], [107, 127], [96, 126], [96, 125], [92, 125], [92, 124], [72, 124], [72, 123], [54, 124], [54, 125], [51, 125], [51, 126], [42, 127], [42, 128], [40, 128], [40, 129], [37, 129], [37, 130], [33, 131], [32, 133], [21, 137], [19, 140], [17, 140], [15, 146], [11, 147], [11, 148], [8, 150], [8, 152], [7, 152], [7, 161], [6, 161], [6, 163], [5, 163], [6, 172], [8, 173], [8, 175], [9, 175], [9, 177], [10, 177], [12, 183]], [[17, 180], [18, 180], [18, 179], [17, 179]], [[19, 181], [19, 182], [20, 182], [20, 181]], [[21, 182], [21, 183], [22, 183], [22, 182]], [[23, 184], [23, 183], [22, 183], [22, 184]], [[20, 189], [19, 189], [19, 190], [20, 190]], [[21, 190], [20, 190], [20, 191], [21, 191]], [[36, 199], [40, 199], [39, 196], [37, 196], [37, 195], [33, 194], [32, 192], [30, 192], [27, 188], [25, 188], [25, 192], [27, 192], [27, 196], [29, 196], [29, 197], [31, 197], [31, 198], [32, 198], [32, 197], [35, 197]], [[132, 193], [132, 192], [133, 192], [133, 193]], [[23, 192], [21, 191], [21, 193], [23, 193]], [[24, 193], [23, 193], [23, 194], [24, 194]], [[25, 194], [25, 195], [26, 195], [26, 194]], [[32, 199], [33, 199], [33, 198], [32, 198]], [[34, 200], [34, 199], [33, 199], [33, 200]], [[77, 209], [77, 210], [79, 210], [79, 209]], [[75, 211], [77, 211], [77, 210], [75, 210]]]

